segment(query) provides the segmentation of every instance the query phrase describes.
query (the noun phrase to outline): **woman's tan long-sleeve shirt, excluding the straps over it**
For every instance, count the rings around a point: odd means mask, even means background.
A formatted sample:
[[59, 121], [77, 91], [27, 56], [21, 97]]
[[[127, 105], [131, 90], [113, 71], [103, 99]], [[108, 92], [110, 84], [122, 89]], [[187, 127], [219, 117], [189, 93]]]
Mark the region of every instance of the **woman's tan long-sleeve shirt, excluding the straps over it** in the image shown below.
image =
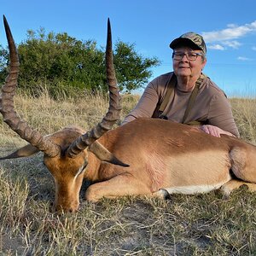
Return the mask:
[[[137, 106], [125, 117], [123, 125], [138, 117], [158, 117], [157, 110], [166, 96], [167, 85], [172, 74], [160, 75], [148, 84]], [[177, 87], [174, 89], [165, 110], [168, 119], [178, 123], [183, 121], [190, 94], [191, 91], [178, 90]], [[195, 120], [207, 125], [218, 126], [220, 129], [239, 137], [230, 102], [223, 90], [220, 90], [207, 77], [201, 83], [194, 106], [190, 109], [186, 122]]]

